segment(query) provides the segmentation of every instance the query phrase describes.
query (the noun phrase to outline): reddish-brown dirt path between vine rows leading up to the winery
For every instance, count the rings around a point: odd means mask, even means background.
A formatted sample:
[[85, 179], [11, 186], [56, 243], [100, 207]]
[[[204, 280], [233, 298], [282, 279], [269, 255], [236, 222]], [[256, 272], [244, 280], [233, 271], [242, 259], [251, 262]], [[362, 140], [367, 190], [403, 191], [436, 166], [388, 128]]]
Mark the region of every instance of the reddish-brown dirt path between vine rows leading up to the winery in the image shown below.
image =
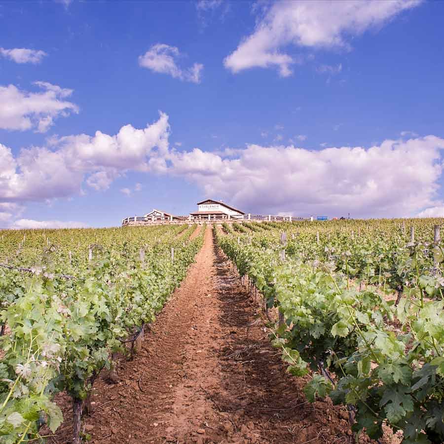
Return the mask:
[[[142, 349], [120, 363], [121, 382], [96, 382], [95, 411], [84, 418], [90, 442], [351, 442], [345, 409], [305, 401], [255, 312], [208, 227]], [[70, 437], [66, 425], [52, 442]]]

